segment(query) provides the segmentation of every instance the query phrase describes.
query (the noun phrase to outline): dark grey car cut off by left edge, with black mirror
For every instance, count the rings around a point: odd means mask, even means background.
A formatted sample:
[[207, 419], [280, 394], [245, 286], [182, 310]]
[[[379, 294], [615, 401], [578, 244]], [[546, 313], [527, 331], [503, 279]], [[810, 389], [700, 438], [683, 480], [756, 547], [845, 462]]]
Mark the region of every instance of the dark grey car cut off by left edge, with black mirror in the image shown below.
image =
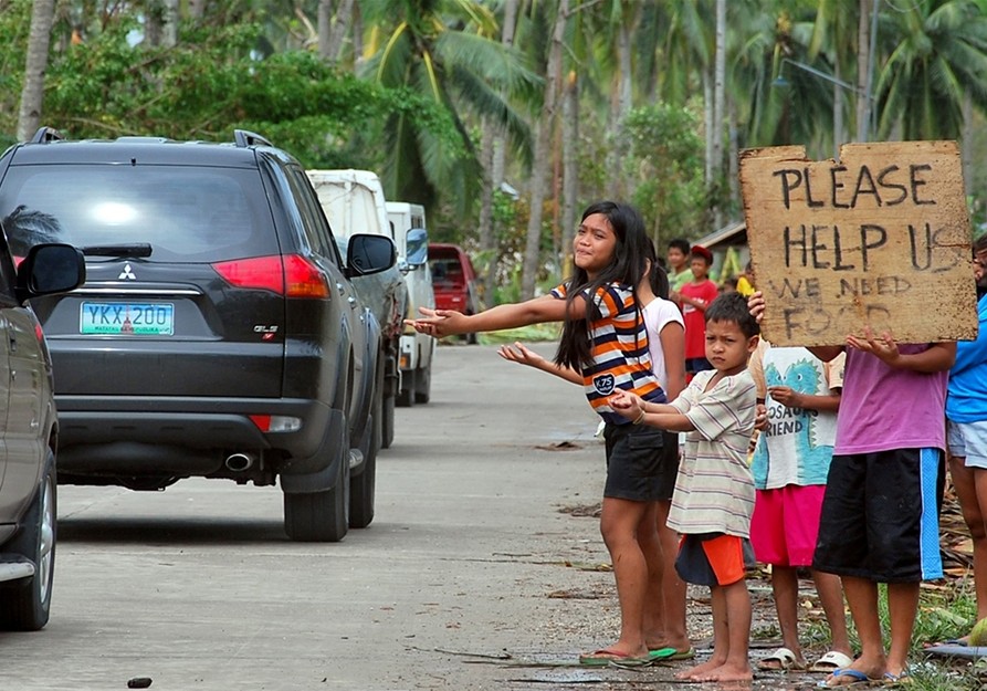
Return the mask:
[[14, 258], [0, 228], [0, 628], [48, 624], [55, 568], [59, 420], [52, 363], [27, 301], [85, 276], [75, 248], [39, 245]]

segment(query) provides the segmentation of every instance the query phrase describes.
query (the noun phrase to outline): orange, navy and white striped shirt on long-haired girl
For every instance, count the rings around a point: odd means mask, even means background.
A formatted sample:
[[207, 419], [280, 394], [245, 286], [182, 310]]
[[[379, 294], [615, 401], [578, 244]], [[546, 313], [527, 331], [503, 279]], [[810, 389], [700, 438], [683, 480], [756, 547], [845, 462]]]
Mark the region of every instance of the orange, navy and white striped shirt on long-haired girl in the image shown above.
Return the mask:
[[[552, 295], [565, 300], [566, 285], [553, 290]], [[582, 367], [582, 389], [589, 405], [606, 422], [627, 425], [629, 420], [609, 405], [617, 389], [633, 391], [644, 400], [665, 401], [651, 370], [644, 317], [628, 285], [610, 283], [600, 286], [596, 295], [584, 295], [592, 362]]]

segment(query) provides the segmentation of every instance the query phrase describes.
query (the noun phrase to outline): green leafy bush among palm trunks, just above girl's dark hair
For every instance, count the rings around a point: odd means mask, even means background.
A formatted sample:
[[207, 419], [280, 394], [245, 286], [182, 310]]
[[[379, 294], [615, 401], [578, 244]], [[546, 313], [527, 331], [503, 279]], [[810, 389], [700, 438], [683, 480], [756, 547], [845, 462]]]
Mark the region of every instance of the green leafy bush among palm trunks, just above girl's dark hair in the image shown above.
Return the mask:
[[632, 148], [624, 165], [639, 181], [632, 201], [651, 223], [655, 244], [702, 234], [705, 145], [699, 118], [687, 108], [658, 104], [631, 111], [626, 126]]

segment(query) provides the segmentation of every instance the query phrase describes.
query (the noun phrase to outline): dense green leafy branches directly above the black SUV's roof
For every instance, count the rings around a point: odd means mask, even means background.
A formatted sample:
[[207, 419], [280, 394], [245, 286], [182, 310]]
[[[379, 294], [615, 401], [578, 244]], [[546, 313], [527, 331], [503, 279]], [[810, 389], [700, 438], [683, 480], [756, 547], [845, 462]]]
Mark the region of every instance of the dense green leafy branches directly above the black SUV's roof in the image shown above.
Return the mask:
[[396, 115], [456, 146], [448, 112], [409, 90], [337, 73], [305, 51], [260, 59], [254, 24], [190, 25], [170, 49], [135, 44], [139, 29], [122, 18], [52, 56], [45, 124], [73, 138], [229, 140], [245, 128], [309, 167], [378, 167], [385, 151], [374, 133]]

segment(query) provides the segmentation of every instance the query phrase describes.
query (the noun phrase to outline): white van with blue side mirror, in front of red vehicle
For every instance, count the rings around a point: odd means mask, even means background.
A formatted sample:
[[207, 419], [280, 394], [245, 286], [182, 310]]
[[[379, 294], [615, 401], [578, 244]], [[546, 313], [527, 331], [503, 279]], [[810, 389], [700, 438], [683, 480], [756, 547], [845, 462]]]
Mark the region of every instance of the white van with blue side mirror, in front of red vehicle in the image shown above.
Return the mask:
[[[407, 201], [388, 201], [387, 218], [393, 228], [398, 265], [408, 286], [408, 314], [418, 315], [419, 307], [434, 308], [424, 208]], [[407, 327], [401, 334], [400, 352], [401, 390], [398, 392], [398, 405], [429, 402], [435, 339]]]

